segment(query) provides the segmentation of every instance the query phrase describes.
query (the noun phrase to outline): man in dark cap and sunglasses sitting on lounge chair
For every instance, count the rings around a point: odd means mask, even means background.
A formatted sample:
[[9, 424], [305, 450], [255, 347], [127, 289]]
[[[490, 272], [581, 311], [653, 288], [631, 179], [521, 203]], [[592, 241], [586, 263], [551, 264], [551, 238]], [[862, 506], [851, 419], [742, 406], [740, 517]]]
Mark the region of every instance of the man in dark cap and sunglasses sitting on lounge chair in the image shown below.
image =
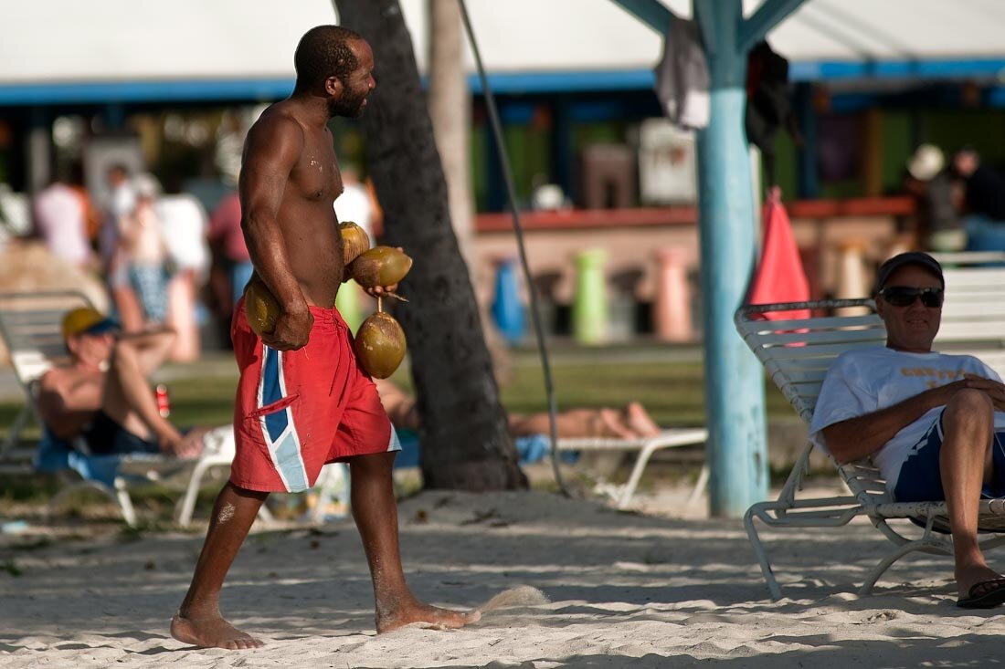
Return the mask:
[[871, 457], [897, 501], [945, 500], [964, 608], [1005, 603], [1005, 578], [977, 541], [982, 495], [1005, 496], [1005, 385], [973, 356], [932, 351], [946, 287], [932, 256], [882, 264], [876, 311], [886, 346], [841, 355], [820, 390], [810, 436], [839, 463]]

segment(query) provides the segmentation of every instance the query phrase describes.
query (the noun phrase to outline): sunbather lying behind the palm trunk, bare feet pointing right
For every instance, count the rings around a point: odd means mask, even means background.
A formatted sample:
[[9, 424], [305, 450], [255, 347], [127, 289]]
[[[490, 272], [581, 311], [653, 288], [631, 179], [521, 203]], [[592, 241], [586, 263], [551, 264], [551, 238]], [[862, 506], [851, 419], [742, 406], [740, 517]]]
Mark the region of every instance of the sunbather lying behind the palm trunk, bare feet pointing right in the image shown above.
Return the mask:
[[[415, 398], [402, 390], [393, 381], [375, 379], [384, 411], [396, 428], [418, 431], [419, 412]], [[510, 414], [510, 435], [515, 438], [548, 434], [547, 413]], [[568, 409], [558, 415], [558, 436], [560, 439], [611, 438], [639, 439], [654, 437], [660, 432], [659, 426], [638, 402], [630, 402], [624, 408], [611, 409]]]

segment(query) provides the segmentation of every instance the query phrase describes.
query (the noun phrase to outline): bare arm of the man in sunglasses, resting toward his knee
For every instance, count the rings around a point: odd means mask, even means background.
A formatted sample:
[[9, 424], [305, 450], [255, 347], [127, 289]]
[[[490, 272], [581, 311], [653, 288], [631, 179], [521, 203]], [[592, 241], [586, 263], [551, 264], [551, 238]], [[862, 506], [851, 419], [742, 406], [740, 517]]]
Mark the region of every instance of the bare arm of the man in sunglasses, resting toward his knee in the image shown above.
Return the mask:
[[927, 412], [948, 404], [950, 398], [964, 388], [987, 393], [999, 411], [1005, 406], [1005, 387], [1002, 384], [968, 376], [961, 381], [927, 390], [892, 407], [828, 425], [821, 430], [827, 441], [827, 450], [841, 464], [871, 455]]

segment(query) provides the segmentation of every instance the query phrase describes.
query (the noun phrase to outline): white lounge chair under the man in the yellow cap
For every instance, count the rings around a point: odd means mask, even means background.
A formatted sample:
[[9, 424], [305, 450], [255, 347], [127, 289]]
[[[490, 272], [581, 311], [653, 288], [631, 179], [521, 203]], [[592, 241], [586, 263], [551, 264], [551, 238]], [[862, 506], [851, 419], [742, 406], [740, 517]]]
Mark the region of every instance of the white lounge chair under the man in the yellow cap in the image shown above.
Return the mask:
[[[108, 496], [130, 525], [137, 522], [129, 490], [175, 476], [187, 477], [186, 493], [179, 502], [178, 515], [188, 524], [195, 496], [203, 477], [213, 468], [229, 467], [233, 459], [233, 436], [207, 440], [209, 446], [196, 460], [178, 460], [156, 454], [95, 455], [56, 438], [45, 427], [35, 404], [39, 380], [52, 366], [66, 359], [62, 341], [62, 318], [71, 308], [90, 306], [83, 293], [43, 291], [0, 293], [0, 336], [7, 347], [14, 376], [24, 391], [24, 406], [0, 442], [0, 472], [27, 474], [54, 473], [66, 479], [70, 472], [77, 480], [65, 480], [49, 501], [58, 507], [71, 493], [81, 488]], [[34, 420], [41, 430], [37, 448], [21, 448], [24, 429]], [[229, 426], [221, 434], [229, 431]], [[262, 518], [268, 511], [262, 506]]]

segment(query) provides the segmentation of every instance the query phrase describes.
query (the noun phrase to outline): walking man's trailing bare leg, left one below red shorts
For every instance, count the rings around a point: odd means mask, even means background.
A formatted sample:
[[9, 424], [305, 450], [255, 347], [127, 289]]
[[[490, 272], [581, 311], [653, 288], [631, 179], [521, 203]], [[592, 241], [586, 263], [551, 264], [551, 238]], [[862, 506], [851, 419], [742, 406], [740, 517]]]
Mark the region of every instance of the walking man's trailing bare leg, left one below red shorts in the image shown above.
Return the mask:
[[241, 650], [258, 648], [262, 642], [228, 623], [220, 615], [220, 589], [237, 551], [254, 522], [267, 492], [223, 486], [206, 532], [192, 585], [171, 621], [171, 636], [203, 648]]

